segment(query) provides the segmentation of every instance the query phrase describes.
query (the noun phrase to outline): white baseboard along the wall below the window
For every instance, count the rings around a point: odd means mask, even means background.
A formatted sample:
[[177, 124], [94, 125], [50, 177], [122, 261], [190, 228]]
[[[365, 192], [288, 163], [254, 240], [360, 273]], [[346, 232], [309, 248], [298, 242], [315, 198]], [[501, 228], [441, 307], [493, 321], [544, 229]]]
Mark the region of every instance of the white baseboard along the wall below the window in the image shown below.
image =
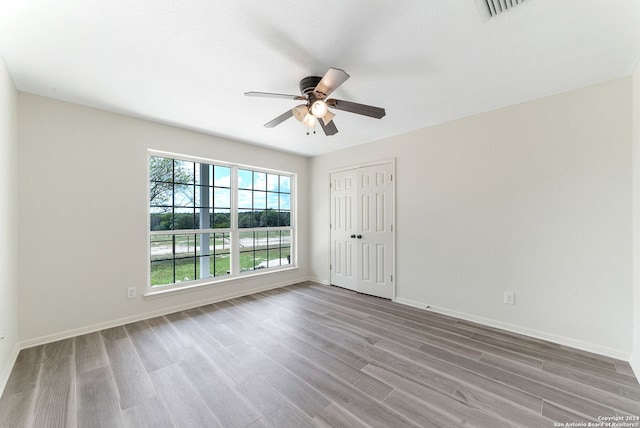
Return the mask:
[[197, 307], [208, 305], [211, 303], [222, 302], [224, 300], [235, 299], [236, 297], [248, 296], [250, 294], [260, 293], [261, 291], [273, 290], [275, 288], [285, 287], [287, 285], [297, 284], [299, 282], [301, 282], [301, 280], [296, 279], [293, 281], [264, 285], [260, 287], [250, 288], [248, 290], [242, 290], [239, 292], [232, 292], [232, 293], [227, 293], [220, 296], [210, 297], [207, 299], [197, 300], [197, 301], [189, 302], [182, 305], [171, 306], [169, 308], [164, 308], [157, 311], [145, 312], [141, 314], [132, 315], [129, 317], [119, 318], [112, 321], [106, 321], [106, 322], [93, 324], [85, 327], [79, 327], [72, 330], [63, 331], [60, 333], [49, 334], [46, 336], [41, 336], [35, 339], [29, 339], [29, 340], [20, 342], [19, 349], [25, 349], [25, 348], [31, 348], [33, 346], [44, 345], [47, 343], [56, 342], [58, 340], [68, 339], [70, 337], [93, 333], [93, 332], [104, 330], [107, 328], [118, 327], [118, 326], [129, 324], [132, 322], [143, 321], [149, 318], [159, 317], [162, 315], [168, 315], [174, 312], [197, 308]]

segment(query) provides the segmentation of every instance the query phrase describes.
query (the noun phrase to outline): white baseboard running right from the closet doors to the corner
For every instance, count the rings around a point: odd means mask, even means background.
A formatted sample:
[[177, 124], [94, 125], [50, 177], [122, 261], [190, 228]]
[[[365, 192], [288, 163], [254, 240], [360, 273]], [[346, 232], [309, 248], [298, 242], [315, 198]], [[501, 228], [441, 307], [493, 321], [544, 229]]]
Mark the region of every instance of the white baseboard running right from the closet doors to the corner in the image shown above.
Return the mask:
[[[506, 330], [511, 333], [522, 334], [524, 336], [529, 336], [535, 339], [546, 340], [549, 342], [556, 343], [558, 345], [568, 346], [571, 348], [592, 352], [594, 354], [603, 355], [603, 356], [615, 358], [618, 360], [629, 361], [631, 358], [631, 355], [628, 352], [624, 352], [618, 349], [612, 349], [606, 346], [596, 345], [594, 343], [571, 339], [569, 337], [559, 336], [559, 335], [547, 333], [544, 331], [539, 331], [539, 330], [534, 330], [526, 327], [521, 327], [514, 324], [504, 323], [494, 319], [479, 317], [476, 315], [471, 315], [464, 312], [458, 312], [458, 311], [454, 311], [447, 308], [440, 308], [433, 305], [428, 305], [423, 302], [418, 302], [411, 299], [405, 299], [402, 297], [397, 297], [394, 301], [403, 305], [412, 306], [414, 308], [424, 309], [426, 311], [433, 311], [443, 315], [449, 315], [454, 318], [460, 318], [466, 321], [471, 321], [478, 324], [486, 325], [488, 327], [499, 328], [501, 330]], [[635, 369], [635, 367], [634, 367], [634, 370], [636, 371], [636, 373], [639, 373]]]

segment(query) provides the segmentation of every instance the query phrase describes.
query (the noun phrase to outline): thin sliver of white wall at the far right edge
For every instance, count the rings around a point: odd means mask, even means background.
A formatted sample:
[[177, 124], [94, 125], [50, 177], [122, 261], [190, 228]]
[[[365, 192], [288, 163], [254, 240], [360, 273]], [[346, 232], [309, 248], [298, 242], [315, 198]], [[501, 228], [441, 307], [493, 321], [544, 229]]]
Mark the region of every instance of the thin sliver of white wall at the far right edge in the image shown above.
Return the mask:
[[633, 75], [633, 354], [640, 378], [640, 65]]

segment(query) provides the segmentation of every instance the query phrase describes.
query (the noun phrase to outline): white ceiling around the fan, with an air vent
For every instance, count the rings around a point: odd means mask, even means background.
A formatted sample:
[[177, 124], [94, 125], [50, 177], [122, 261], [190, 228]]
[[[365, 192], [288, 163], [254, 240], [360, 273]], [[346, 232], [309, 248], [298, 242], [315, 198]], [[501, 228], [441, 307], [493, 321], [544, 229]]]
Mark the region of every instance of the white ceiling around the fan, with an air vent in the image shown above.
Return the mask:
[[[509, 1], [509, 0], [507, 0]], [[18, 90], [313, 156], [630, 75], [639, 0], [0, 0]], [[342, 68], [339, 133], [289, 119], [298, 82]]]

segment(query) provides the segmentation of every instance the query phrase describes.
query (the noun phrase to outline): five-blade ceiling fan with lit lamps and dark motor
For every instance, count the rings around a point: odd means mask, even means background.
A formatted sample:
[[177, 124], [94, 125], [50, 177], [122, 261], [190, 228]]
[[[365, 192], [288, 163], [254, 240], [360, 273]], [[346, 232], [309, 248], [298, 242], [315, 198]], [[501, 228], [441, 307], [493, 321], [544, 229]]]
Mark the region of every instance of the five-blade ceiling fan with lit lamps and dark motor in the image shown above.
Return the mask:
[[[329, 94], [335, 91], [349, 77], [344, 70], [330, 68], [322, 77], [308, 76], [302, 79], [300, 81], [302, 95], [274, 94], [272, 92], [245, 92], [244, 94], [249, 97], [286, 98], [305, 101], [304, 104], [287, 110], [272, 121], [265, 123], [264, 126], [266, 128], [273, 128], [293, 116], [307, 127], [307, 135], [309, 134], [309, 129], [315, 128], [316, 123], [320, 124], [325, 135], [335, 135], [338, 133], [338, 128], [333, 122], [335, 114], [329, 111], [329, 107], [376, 119], [381, 119], [386, 114], [384, 109], [380, 107], [337, 100], [335, 98], [327, 99]], [[313, 132], [315, 133], [315, 129]]]

